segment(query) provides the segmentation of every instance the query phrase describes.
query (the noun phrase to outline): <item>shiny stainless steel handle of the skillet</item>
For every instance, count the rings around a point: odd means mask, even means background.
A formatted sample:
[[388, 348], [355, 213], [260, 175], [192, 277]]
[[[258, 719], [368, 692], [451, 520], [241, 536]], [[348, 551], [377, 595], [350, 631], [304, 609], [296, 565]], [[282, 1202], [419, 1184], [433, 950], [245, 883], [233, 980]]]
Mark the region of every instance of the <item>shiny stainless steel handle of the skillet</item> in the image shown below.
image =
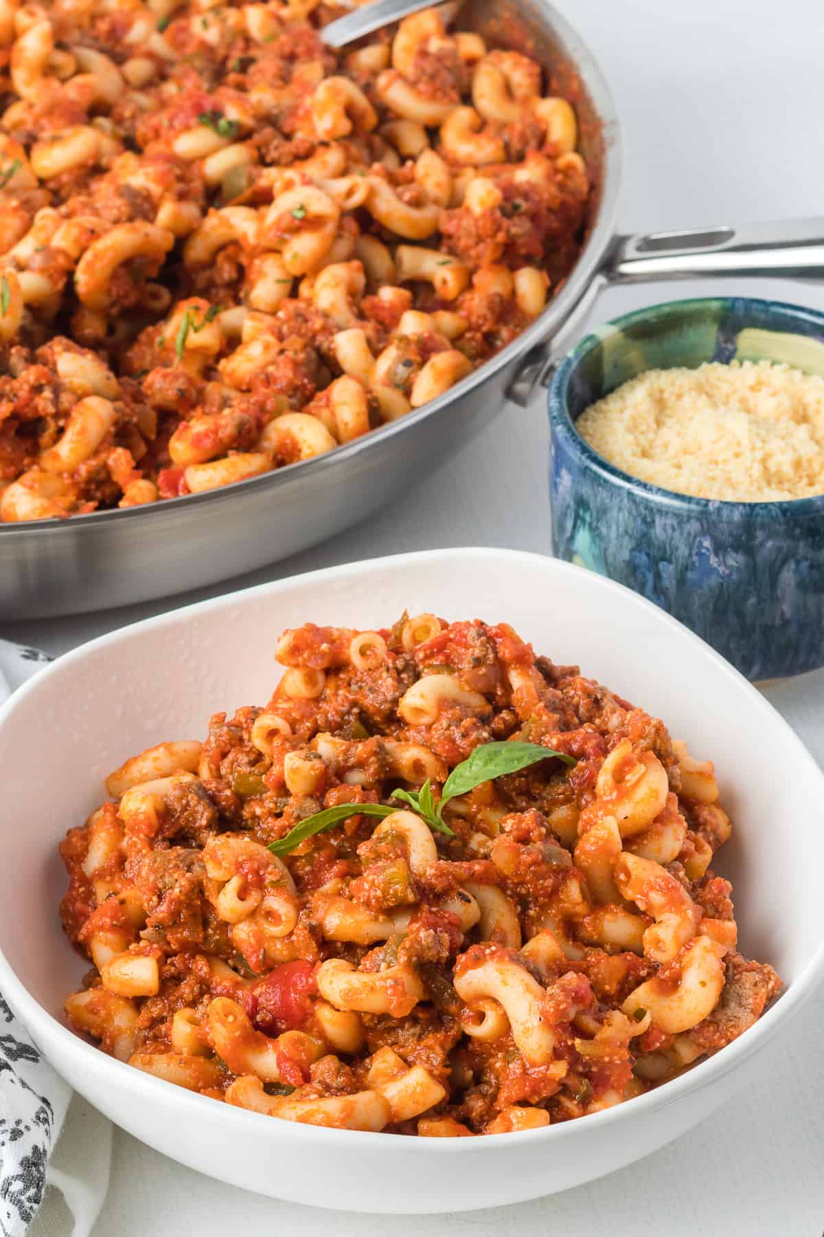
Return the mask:
[[526, 407], [536, 387], [547, 386], [556, 362], [574, 341], [604, 287], [742, 275], [824, 280], [824, 215], [741, 228], [616, 236], [560, 330], [526, 355], [507, 390], [508, 398]]

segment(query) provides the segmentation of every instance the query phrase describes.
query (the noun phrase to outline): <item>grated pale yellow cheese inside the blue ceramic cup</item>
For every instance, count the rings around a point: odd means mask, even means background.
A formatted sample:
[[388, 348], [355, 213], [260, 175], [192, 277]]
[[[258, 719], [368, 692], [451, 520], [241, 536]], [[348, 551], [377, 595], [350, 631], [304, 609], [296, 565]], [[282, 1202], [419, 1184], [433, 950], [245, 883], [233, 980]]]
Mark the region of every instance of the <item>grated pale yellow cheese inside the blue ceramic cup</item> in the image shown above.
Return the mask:
[[824, 494], [824, 379], [771, 361], [649, 370], [576, 428], [642, 481], [702, 499]]

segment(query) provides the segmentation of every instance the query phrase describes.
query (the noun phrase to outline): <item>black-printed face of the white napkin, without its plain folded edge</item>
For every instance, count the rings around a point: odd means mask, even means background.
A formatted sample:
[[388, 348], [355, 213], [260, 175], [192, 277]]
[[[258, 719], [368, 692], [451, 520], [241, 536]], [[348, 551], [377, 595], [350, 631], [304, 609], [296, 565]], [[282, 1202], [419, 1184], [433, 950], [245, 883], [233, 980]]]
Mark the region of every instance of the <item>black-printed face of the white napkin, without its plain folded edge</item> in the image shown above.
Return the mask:
[[[51, 658], [0, 641], [0, 703]], [[0, 1235], [22, 1237], [46, 1191], [48, 1158], [72, 1098], [0, 995]]]

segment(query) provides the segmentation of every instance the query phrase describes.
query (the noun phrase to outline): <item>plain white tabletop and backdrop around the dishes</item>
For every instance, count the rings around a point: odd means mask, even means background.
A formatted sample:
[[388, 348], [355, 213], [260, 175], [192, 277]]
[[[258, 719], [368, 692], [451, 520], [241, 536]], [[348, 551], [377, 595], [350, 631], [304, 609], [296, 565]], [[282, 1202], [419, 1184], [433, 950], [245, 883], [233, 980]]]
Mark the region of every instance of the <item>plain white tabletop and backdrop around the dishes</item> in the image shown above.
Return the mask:
[[[626, 146], [621, 226], [640, 231], [813, 215], [824, 207], [822, 0], [557, 0], [612, 84]], [[824, 309], [824, 285], [728, 281], [724, 289]], [[613, 291], [593, 320], [719, 285]], [[316, 567], [439, 546], [549, 552], [542, 406], [507, 408], [448, 470], [392, 511], [237, 585]], [[226, 591], [220, 585], [183, 600]], [[182, 599], [77, 618], [6, 625], [52, 653]], [[676, 672], [677, 673], [677, 672]], [[772, 684], [770, 699], [824, 763], [824, 670]], [[730, 719], [734, 725], [734, 719]], [[767, 753], [768, 758], [768, 753]], [[791, 776], [791, 771], [788, 771]], [[822, 828], [822, 805], [799, 828]], [[720, 1115], [619, 1174], [495, 1211], [390, 1221], [409, 1237], [820, 1237], [824, 1231], [824, 1054], [817, 1002], [762, 1056], [761, 1084]], [[425, 1183], [421, 1183], [425, 1190]], [[322, 1180], [317, 1184], [322, 1197]], [[65, 1235], [57, 1211], [44, 1227]], [[321, 1212], [242, 1194], [116, 1132], [109, 1197], [95, 1237], [195, 1231], [383, 1237], [385, 1217]]]

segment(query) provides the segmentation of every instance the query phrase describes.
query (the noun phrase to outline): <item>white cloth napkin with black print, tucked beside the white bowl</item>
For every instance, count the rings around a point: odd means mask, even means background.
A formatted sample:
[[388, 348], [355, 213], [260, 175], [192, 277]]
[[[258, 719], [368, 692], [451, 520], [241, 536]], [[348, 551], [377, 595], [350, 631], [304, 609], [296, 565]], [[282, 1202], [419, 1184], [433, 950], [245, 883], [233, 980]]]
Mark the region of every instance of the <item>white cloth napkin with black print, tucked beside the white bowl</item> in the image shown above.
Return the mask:
[[[0, 704], [49, 661], [40, 649], [0, 640]], [[70, 1100], [68, 1084], [43, 1060], [0, 993], [0, 1237], [28, 1231], [47, 1186], [63, 1195], [62, 1215], [49, 1223], [44, 1207], [37, 1232], [88, 1237], [91, 1231], [109, 1183], [111, 1131], [79, 1098], [67, 1123]], [[64, 1126], [61, 1153], [51, 1160]], [[89, 1142], [91, 1152], [80, 1147]]]

